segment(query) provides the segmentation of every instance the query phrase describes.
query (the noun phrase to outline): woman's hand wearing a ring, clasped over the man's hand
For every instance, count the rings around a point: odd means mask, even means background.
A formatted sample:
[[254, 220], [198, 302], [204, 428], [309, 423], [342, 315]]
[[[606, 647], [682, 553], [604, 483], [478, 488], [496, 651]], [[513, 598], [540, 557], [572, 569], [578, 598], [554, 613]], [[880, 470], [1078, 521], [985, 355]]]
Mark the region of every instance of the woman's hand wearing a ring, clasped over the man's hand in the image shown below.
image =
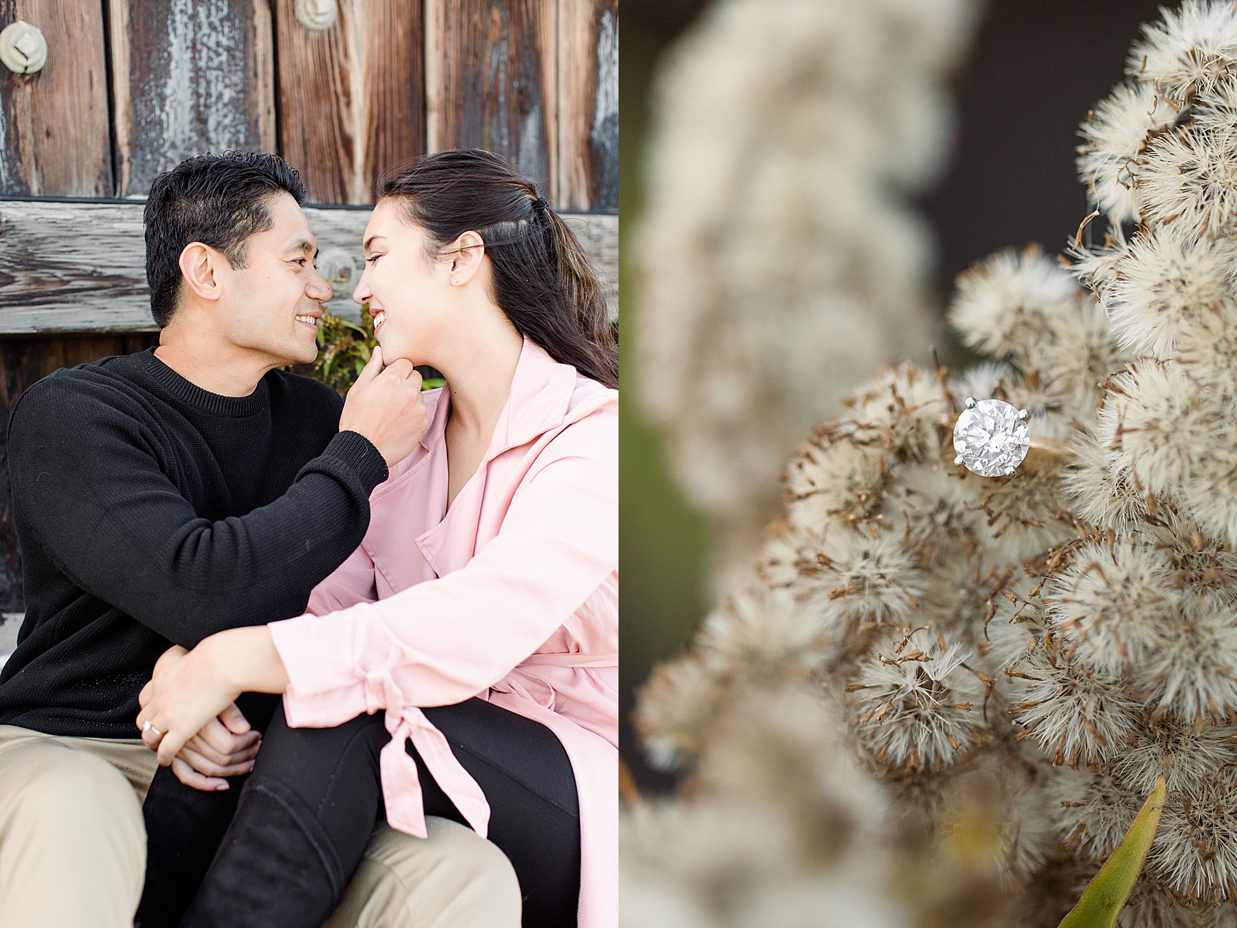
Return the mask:
[[176, 646], [163, 652], [137, 697], [137, 728], [166, 767], [241, 693], [282, 693], [287, 684], [265, 625], [221, 631], [193, 651]]

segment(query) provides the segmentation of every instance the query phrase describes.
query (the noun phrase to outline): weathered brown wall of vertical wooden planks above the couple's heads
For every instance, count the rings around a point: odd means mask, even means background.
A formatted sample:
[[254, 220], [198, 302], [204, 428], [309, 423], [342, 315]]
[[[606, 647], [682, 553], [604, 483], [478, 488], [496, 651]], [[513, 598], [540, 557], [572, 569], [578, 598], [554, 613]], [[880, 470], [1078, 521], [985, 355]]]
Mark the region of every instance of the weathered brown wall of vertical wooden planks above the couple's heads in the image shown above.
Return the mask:
[[0, 68], [0, 197], [143, 195], [239, 148], [283, 155], [312, 202], [364, 204], [393, 165], [482, 147], [559, 210], [617, 210], [617, 0], [339, 0], [320, 32], [293, 7], [0, 0], [0, 28], [48, 43], [37, 74]]

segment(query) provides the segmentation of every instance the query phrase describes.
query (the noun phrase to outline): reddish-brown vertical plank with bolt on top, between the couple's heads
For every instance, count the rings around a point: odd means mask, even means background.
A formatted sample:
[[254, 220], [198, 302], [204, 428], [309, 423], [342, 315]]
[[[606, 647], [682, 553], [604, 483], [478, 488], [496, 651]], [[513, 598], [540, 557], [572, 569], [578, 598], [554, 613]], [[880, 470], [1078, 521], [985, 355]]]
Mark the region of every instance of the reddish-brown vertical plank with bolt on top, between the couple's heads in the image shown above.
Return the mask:
[[314, 203], [371, 203], [374, 178], [426, 150], [421, 0], [341, 0], [313, 32], [277, 0], [280, 145]]

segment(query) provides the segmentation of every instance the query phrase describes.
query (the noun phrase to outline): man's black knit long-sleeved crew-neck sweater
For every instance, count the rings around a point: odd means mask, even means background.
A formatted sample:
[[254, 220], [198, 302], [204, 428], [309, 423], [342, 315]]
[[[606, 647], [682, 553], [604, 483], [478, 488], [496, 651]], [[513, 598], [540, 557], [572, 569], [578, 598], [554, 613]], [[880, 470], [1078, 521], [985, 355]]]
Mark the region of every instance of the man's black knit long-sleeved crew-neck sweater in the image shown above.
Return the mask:
[[26, 620], [0, 724], [136, 737], [137, 693], [172, 642], [301, 615], [355, 551], [379, 450], [341, 402], [271, 371], [209, 393], [153, 349], [61, 370], [9, 423]]

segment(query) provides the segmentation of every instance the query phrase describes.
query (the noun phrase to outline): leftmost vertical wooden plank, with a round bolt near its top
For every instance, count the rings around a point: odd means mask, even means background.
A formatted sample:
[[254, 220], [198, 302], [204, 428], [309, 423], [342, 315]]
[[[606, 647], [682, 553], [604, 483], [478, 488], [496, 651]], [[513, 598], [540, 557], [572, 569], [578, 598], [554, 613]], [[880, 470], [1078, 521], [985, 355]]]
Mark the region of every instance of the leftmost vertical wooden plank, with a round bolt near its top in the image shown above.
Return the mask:
[[36, 74], [0, 66], [0, 194], [110, 197], [108, 75], [100, 0], [0, 0], [47, 40]]

